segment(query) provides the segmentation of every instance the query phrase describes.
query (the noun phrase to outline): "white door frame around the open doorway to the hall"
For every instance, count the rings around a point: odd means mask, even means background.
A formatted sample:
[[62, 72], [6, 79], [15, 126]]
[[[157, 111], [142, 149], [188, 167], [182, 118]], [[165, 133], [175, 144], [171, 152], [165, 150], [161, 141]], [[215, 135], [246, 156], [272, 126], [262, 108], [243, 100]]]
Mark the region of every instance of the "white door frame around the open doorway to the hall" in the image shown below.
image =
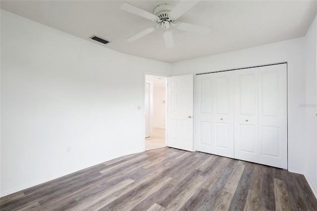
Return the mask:
[[[170, 75], [167, 74], [161, 74], [161, 73], [156, 73], [156, 72], [148, 72], [148, 71], [143, 71], [143, 108], [145, 107], [145, 83], [146, 75], [151, 75], [151, 76], [158, 76], [158, 77], [164, 77], [165, 78], [165, 145], [167, 146], [167, 78], [170, 77]], [[151, 86], [150, 86], [151, 87]], [[151, 91], [150, 91], [151, 93]], [[145, 110], [142, 109], [142, 119], [143, 119], [143, 128], [142, 128], [142, 148], [143, 152], [145, 151]], [[151, 120], [150, 120], [151, 121]]]

